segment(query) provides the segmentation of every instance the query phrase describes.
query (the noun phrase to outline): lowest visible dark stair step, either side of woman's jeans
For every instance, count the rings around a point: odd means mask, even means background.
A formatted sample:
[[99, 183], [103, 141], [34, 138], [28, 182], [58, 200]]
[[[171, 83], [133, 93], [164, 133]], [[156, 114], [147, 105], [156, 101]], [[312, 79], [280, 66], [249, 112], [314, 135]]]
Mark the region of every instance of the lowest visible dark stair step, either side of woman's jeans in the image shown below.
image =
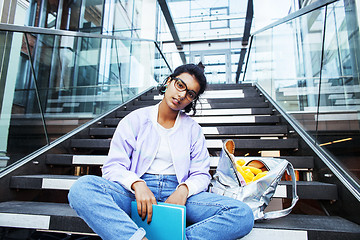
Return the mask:
[[[11, 214], [12, 220], [8, 216]], [[0, 203], [0, 214], [3, 214], [2, 224], [18, 227], [24, 215], [49, 216], [46, 230], [73, 231], [78, 233], [93, 233], [86, 223], [77, 216], [76, 212], [66, 203], [21, 202], [11, 201]], [[59, 221], [59, 218], [62, 221]], [[34, 222], [28, 224], [35, 224]], [[328, 233], [350, 233], [360, 236], [360, 226], [337, 216], [317, 216], [289, 214], [286, 217], [271, 221], [256, 222], [254, 228], [285, 229], [303, 231], [325, 231]], [[345, 236], [344, 236], [345, 237]]]

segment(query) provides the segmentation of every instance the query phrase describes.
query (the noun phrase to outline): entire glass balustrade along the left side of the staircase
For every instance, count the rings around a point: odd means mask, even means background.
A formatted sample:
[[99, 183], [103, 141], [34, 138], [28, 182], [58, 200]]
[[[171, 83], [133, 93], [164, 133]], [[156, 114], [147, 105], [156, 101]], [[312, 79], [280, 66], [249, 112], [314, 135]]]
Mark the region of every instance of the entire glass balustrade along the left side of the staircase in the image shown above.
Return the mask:
[[0, 169], [158, 85], [171, 71], [154, 41], [23, 29], [0, 31]]

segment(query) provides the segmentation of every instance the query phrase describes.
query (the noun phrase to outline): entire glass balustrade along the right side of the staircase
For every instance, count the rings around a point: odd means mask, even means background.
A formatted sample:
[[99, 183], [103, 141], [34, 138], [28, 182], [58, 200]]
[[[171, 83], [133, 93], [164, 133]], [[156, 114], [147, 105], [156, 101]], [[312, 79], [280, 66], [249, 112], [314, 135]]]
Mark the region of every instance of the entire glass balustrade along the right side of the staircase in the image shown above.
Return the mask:
[[355, 2], [344, 2], [254, 35], [245, 80], [360, 182], [359, 22]]

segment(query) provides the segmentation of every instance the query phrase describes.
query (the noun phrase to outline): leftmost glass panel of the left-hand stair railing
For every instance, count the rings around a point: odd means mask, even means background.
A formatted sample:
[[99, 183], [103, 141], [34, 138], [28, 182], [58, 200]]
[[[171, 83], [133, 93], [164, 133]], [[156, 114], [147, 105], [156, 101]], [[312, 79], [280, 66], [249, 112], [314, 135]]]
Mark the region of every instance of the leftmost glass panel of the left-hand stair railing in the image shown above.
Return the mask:
[[48, 143], [23, 43], [22, 33], [0, 31], [0, 170]]

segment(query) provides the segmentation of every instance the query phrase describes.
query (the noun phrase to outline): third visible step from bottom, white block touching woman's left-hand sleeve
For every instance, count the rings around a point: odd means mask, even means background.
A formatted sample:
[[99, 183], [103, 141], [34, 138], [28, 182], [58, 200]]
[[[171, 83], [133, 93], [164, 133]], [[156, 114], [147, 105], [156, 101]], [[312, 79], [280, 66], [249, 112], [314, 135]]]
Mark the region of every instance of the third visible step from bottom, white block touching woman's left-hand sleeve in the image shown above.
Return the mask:
[[[104, 164], [107, 155], [72, 155], [72, 154], [48, 154], [46, 164], [79, 166], [79, 165], [96, 165]], [[237, 157], [241, 158], [241, 157]], [[294, 168], [312, 169], [314, 167], [314, 158], [310, 156], [281, 156], [280, 158], [288, 160]], [[210, 157], [210, 167], [216, 168], [219, 157]]]

